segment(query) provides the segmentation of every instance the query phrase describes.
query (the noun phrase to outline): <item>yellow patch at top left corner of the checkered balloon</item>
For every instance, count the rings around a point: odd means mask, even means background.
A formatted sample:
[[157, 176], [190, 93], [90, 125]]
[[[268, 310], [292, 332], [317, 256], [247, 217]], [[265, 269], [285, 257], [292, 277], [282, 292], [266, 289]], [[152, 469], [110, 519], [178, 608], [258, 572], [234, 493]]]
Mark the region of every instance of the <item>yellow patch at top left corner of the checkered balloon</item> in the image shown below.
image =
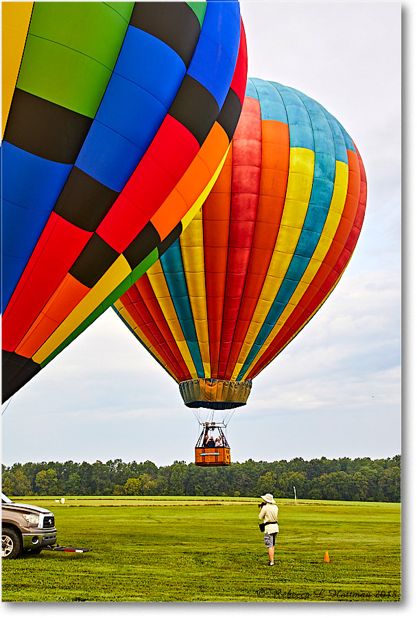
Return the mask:
[[19, 75], [33, 5], [33, 2], [3, 2], [1, 5], [1, 135]]

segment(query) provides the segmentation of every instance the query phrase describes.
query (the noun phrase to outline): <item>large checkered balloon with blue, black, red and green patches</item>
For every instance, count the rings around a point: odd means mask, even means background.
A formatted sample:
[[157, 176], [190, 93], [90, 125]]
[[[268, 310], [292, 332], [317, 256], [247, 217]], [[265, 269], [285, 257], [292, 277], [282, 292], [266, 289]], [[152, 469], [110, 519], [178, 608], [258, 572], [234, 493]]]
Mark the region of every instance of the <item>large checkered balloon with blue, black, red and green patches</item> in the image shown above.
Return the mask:
[[178, 238], [246, 87], [239, 2], [3, 5], [3, 401]]

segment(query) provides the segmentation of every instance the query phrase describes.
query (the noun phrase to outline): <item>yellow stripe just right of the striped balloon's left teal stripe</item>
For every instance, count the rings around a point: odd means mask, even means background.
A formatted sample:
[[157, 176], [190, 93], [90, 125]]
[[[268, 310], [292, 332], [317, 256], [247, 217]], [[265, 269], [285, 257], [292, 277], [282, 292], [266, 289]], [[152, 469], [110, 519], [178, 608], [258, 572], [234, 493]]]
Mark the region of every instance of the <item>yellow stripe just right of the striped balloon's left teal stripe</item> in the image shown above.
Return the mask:
[[201, 210], [179, 238], [185, 281], [193, 314], [195, 334], [204, 368], [204, 378], [211, 376], [208, 345], [206, 279], [204, 277], [204, 243]]

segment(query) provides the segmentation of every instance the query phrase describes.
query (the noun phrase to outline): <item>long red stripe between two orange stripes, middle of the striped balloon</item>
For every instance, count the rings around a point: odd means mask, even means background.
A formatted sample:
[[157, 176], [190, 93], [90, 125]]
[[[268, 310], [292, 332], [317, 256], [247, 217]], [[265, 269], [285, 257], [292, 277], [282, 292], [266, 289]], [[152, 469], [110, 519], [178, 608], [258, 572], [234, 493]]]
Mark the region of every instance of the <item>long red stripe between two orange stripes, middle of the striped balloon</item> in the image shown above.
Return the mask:
[[[224, 375], [228, 363], [257, 219], [262, 157], [261, 116], [259, 104], [251, 98], [243, 104], [233, 139], [235, 148], [219, 375]], [[241, 152], [246, 152], [246, 157], [241, 157]]]

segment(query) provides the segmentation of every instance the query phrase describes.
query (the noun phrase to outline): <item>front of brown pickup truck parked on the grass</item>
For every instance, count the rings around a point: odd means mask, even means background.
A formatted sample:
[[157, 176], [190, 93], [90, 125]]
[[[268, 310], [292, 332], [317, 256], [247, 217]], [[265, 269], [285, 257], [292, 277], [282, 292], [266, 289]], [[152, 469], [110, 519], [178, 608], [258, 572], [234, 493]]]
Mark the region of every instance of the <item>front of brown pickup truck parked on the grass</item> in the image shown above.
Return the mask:
[[1, 494], [1, 557], [19, 558], [56, 544], [53, 513], [31, 504], [14, 503]]

